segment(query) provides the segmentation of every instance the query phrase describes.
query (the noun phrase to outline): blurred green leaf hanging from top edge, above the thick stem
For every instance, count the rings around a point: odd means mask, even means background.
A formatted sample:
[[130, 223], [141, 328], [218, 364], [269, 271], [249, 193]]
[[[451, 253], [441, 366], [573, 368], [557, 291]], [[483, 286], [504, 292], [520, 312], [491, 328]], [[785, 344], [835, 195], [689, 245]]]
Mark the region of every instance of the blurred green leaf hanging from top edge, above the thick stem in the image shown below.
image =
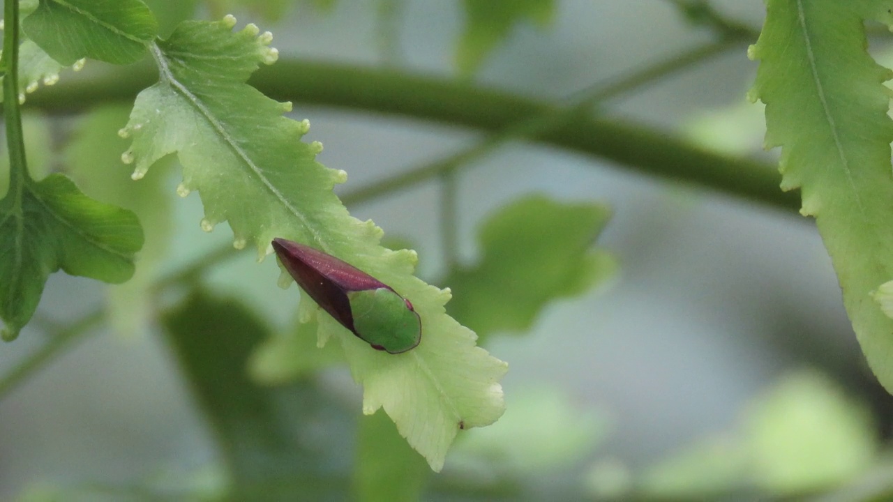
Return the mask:
[[465, 30], [456, 47], [459, 72], [470, 75], [508, 38], [514, 25], [530, 21], [546, 27], [555, 14], [554, 0], [464, 0]]

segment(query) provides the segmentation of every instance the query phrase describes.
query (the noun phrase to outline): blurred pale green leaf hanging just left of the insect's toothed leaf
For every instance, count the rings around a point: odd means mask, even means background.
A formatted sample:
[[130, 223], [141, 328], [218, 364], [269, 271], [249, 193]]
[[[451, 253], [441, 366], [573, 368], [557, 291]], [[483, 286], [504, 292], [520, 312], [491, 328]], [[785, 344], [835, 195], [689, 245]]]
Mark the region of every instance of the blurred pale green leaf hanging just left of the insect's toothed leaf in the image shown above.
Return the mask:
[[121, 165], [126, 141], [118, 130], [127, 123], [128, 114], [129, 108], [122, 105], [96, 108], [79, 119], [65, 149], [69, 173], [84, 193], [136, 213], [146, 235], [134, 276], [108, 291], [109, 321], [121, 333], [138, 332], [150, 324], [153, 299], [148, 289], [167, 254], [173, 230], [173, 197], [167, 183], [171, 159], [163, 159], [164, 165], [139, 183], [130, 180], [129, 171]]

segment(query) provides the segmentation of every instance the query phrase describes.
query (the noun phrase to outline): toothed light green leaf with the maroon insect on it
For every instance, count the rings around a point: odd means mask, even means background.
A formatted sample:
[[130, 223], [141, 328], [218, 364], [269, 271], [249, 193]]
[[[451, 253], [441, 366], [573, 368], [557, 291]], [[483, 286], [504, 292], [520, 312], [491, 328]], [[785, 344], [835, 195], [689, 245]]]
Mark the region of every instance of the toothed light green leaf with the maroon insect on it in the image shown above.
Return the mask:
[[[475, 347], [472, 331], [444, 312], [449, 293], [413, 277], [411, 251], [381, 247], [382, 231], [351, 217], [333, 186], [344, 172], [314, 161], [321, 145], [298, 141], [309, 122], [282, 117], [276, 103], [244, 82], [260, 63], [272, 63], [270, 34], [248, 25], [231, 31], [218, 22], [187, 21], [153, 46], [161, 81], [141, 92], [127, 127], [141, 178], [157, 159], [176, 152], [183, 165], [180, 195], [198, 190], [202, 228], [227, 221], [234, 246], [271, 253], [272, 238], [313, 245], [392, 287], [421, 316], [421, 345], [402, 355], [380, 353], [326, 314], [311, 311], [322, 340], [335, 337], [356, 381], [363, 412], [384, 407], [410, 445], [439, 470], [459, 423], [493, 423], [503, 413], [498, 381], [506, 365]], [[294, 294], [294, 293], [290, 293]], [[310, 301], [302, 302], [309, 305]], [[309, 318], [305, 317], [305, 320]]]

